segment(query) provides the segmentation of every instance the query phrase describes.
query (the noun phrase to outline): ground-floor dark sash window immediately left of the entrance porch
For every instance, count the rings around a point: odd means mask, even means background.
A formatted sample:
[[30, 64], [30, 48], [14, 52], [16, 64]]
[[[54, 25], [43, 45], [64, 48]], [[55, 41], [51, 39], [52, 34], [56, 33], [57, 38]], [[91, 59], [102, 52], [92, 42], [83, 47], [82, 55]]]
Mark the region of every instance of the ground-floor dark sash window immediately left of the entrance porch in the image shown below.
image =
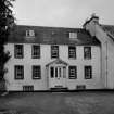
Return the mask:
[[[36, 72], [36, 69], [37, 72]], [[33, 79], [41, 79], [41, 66], [33, 65]]]

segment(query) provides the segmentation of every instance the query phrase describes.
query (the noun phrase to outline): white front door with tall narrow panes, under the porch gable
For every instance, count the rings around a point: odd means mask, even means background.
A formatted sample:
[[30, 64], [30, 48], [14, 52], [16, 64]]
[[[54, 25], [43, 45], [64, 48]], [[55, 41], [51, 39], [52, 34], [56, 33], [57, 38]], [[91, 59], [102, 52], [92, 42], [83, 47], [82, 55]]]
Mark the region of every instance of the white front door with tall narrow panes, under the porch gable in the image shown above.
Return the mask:
[[50, 88], [65, 88], [66, 87], [66, 67], [65, 66], [51, 66], [49, 75]]

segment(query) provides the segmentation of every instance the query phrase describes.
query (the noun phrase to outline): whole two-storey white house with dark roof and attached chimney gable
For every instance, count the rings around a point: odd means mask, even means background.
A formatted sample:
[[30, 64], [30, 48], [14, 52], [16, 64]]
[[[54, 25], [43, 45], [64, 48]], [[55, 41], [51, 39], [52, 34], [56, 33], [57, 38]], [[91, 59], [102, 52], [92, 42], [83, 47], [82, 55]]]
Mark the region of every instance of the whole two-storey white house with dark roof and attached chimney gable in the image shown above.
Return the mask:
[[114, 88], [114, 42], [104, 28], [97, 16], [84, 28], [14, 26], [5, 45], [7, 89]]

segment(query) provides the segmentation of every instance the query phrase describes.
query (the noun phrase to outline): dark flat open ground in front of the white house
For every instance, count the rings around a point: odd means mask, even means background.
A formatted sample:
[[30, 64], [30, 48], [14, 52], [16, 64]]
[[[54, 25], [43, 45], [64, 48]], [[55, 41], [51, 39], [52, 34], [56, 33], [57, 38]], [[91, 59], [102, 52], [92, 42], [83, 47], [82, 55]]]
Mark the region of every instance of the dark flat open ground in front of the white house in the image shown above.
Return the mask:
[[0, 98], [0, 111], [5, 110], [12, 114], [114, 114], [114, 92], [15, 92]]

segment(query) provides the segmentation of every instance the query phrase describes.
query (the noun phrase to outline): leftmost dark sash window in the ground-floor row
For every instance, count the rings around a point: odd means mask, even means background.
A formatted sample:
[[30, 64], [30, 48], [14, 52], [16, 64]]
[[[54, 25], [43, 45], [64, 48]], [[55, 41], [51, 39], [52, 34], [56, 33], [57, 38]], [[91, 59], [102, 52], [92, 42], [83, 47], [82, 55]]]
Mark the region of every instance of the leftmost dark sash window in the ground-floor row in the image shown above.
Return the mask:
[[[18, 77], [17, 75], [21, 75], [21, 76]], [[14, 66], [14, 77], [16, 80], [24, 79], [24, 65], [15, 65]]]

